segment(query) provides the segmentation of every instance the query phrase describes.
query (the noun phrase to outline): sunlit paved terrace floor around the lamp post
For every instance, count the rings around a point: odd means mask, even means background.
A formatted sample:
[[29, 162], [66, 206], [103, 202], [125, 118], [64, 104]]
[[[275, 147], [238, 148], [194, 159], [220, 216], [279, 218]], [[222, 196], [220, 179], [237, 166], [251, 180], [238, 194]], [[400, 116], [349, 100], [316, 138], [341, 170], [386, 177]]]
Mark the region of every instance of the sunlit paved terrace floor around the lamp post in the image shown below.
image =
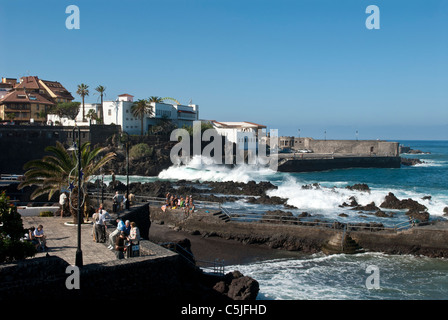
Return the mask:
[[[71, 265], [75, 265], [75, 254], [78, 246], [78, 227], [65, 225], [72, 222], [73, 218], [60, 217], [22, 217], [23, 227], [31, 226], [37, 228], [39, 224], [44, 227], [47, 237], [48, 254], [58, 256]], [[85, 224], [81, 226], [81, 250], [83, 253], [83, 264], [103, 263], [116, 260], [114, 251], [107, 249], [107, 243], [96, 243], [92, 236], [93, 226]], [[110, 231], [115, 230], [114, 227]], [[45, 252], [39, 252], [36, 257], [45, 256]]]

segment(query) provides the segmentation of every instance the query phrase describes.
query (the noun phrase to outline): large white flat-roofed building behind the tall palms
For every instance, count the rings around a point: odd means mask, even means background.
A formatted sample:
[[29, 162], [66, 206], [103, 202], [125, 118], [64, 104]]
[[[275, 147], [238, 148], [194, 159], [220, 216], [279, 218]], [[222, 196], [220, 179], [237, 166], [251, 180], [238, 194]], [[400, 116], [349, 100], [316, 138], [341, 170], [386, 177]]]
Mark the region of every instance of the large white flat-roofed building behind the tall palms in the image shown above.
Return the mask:
[[[140, 134], [141, 119], [132, 114], [131, 108], [134, 103], [134, 96], [122, 94], [115, 101], [104, 101], [104, 124], [118, 124], [123, 131], [129, 134]], [[178, 128], [184, 125], [192, 126], [193, 121], [198, 120], [198, 105], [176, 105], [167, 103], [150, 104], [152, 114], [143, 119], [143, 132], [146, 133], [151, 126], [157, 125], [162, 119], [171, 120]]]

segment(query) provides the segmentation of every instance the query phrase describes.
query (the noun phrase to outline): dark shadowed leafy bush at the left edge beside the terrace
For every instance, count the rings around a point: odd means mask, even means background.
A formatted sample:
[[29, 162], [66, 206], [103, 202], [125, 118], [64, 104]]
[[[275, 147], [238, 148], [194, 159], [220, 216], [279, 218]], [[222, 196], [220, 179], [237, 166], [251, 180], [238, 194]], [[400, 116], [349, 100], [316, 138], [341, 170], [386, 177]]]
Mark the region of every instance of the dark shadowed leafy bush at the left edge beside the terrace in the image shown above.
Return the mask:
[[0, 263], [34, 256], [34, 245], [21, 241], [25, 232], [17, 207], [10, 203], [9, 197], [3, 191], [0, 194]]

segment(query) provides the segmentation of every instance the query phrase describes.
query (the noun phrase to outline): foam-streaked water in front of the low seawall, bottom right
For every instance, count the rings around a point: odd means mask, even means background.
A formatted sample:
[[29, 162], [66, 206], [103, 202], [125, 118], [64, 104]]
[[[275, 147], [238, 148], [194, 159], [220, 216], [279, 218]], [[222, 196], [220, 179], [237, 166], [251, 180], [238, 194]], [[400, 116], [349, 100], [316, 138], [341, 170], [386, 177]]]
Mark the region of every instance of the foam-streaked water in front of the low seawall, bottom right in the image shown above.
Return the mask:
[[[366, 270], [371, 265], [380, 270], [376, 290], [366, 288], [370, 275]], [[226, 268], [256, 279], [260, 300], [440, 299], [448, 290], [445, 261], [408, 255], [316, 254]]]

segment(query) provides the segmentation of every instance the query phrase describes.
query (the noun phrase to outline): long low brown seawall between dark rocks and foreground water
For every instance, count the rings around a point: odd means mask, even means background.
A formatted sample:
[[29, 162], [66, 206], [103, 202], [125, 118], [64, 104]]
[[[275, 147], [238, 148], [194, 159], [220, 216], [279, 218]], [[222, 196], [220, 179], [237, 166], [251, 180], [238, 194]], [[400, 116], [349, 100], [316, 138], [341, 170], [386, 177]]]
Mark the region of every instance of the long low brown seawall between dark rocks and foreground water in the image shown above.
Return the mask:
[[[343, 232], [341, 229], [324, 226], [225, 222], [217, 215], [203, 211], [195, 212], [188, 219], [179, 219], [169, 212], [163, 213], [158, 207], [151, 207], [150, 211], [152, 221], [164, 221], [186, 231], [304, 253], [320, 252], [324, 244]], [[398, 232], [350, 230], [349, 234], [365, 251], [448, 257], [448, 222], [437, 222]]]

